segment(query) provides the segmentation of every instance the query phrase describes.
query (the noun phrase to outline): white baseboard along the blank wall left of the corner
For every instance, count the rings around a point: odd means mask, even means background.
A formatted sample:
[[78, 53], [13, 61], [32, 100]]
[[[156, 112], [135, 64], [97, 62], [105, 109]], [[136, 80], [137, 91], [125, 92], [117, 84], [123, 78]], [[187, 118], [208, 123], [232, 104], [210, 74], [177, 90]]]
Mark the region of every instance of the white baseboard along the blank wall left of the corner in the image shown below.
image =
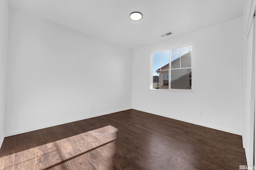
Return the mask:
[[107, 111], [107, 112], [104, 112], [104, 113], [97, 113], [97, 114], [93, 114], [93, 115], [87, 115], [87, 116], [84, 116], [84, 117], [78, 117], [78, 118], [75, 118], [75, 119], [69, 119], [69, 120], [60, 121], [60, 122], [56, 122], [56, 123], [40, 125], [40, 126], [37, 126], [37, 127], [31, 127], [31, 128], [28, 128], [28, 129], [20, 129], [18, 131], [12, 131], [12, 132], [5, 133], [5, 137], [9, 137], [9, 136], [12, 136], [12, 135], [18, 135], [18, 134], [21, 134], [21, 133], [26, 133], [26, 132], [31, 132], [31, 131], [36, 131], [38, 129], [44, 129], [44, 128], [47, 128], [47, 127], [62, 125], [62, 124], [70, 123], [70, 122], [74, 122], [74, 121], [80, 121], [80, 120], [83, 120], [83, 119], [89, 119], [89, 118], [92, 118], [92, 117], [108, 115], [108, 114], [111, 114], [111, 113], [116, 113], [118, 111], [124, 111], [124, 110], [129, 110], [129, 109], [132, 109], [132, 107]]

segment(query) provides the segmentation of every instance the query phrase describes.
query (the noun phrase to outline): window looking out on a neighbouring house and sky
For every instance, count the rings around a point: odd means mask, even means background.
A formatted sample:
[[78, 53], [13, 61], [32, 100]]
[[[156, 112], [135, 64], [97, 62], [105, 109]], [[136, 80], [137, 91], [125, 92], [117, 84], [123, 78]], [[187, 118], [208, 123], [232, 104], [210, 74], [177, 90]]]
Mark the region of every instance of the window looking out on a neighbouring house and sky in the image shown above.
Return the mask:
[[[191, 90], [191, 53], [191, 45], [153, 53], [151, 86], [152, 89]], [[154, 84], [157, 84], [158, 86]]]

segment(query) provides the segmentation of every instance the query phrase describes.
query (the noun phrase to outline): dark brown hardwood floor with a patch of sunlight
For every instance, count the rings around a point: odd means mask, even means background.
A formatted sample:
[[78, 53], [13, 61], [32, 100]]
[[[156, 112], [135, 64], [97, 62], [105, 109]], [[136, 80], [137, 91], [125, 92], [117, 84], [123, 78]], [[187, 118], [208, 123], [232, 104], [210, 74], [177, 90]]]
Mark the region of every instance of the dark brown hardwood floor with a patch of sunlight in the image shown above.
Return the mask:
[[5, 170], [239, 170], [242, 137], [127, 110], [6, 137]]

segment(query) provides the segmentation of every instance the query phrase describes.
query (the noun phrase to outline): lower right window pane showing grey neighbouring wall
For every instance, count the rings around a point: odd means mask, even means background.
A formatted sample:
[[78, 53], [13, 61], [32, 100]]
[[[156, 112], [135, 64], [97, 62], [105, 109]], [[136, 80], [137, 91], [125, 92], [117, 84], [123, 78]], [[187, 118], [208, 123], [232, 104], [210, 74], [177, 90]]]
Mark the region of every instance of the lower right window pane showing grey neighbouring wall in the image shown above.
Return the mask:
[[172, 89], [191, 89], [191, 68], [171, 70]]

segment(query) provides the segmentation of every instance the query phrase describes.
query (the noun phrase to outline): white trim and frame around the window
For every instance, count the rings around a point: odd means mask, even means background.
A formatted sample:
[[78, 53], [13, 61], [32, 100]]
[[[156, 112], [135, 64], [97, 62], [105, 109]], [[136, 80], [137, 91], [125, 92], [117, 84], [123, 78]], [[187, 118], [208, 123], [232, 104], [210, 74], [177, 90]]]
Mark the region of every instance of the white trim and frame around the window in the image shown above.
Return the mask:
[[[191, 67], [186, 67], [186, 68], [191, 68], [191, 72], [193, 72], [193, 51], [194, 51], [194, 47], [193, 47], [193, 44], [192, 43], [188, 43], [188, 44], [184, 44], [184, 45], [179, 45], [179, 46], [175, 46], [175, 47], [171, 47], [171, 48], [168, 48], [168, 49], [163, 49], [163, 50], [159, 50], [159, 51], [154, 51], [154, 52], [152, 52], [151, 53], [151, 68], [150, 68], [150, 90], [156, 90], [156, 91], [169, 91], [169, 92], [185, 92], [185, 93], [194, 93], [194, 90], [193, 90], [193, 88], [194, 88], [194, 83], [191, 83], [191, 89], [172, 89], [171, 88], [171, 79], [170, 79], [170, 76], [169, 76], [169, 84], [168, 84], [168, 86], [169, 86], [169, 88], [168, 89], [153, 89], [153, 83], [152, 83], [152, 81], [153, 81], [153, 55], [155, 54], [155, 53], [161, 53], [161, 52], [163, 52], [163, 51], [170, 51], [169, 52], [169, 61], [171, 61], [171, 51], [172, 50], [175, 50], [175, 49], [179, 49], [179, 48], [183, 48], [183, 47], [188, 47], [188, 46], [192, 46], [192, 51], [191, 51]], [[169, 64], [170, 64], [170, 62], [169, 62]], [[173, 69], [182, 69], [182, 68], [173, 68]], [[169, 75], [171, 75], [171, 68], [170, 68], [170, 66], [169, 66], [169, 69], [168, 69], [168, 71], [169, 71]], [[193, 81], [194, 82], [194, 81]]]

